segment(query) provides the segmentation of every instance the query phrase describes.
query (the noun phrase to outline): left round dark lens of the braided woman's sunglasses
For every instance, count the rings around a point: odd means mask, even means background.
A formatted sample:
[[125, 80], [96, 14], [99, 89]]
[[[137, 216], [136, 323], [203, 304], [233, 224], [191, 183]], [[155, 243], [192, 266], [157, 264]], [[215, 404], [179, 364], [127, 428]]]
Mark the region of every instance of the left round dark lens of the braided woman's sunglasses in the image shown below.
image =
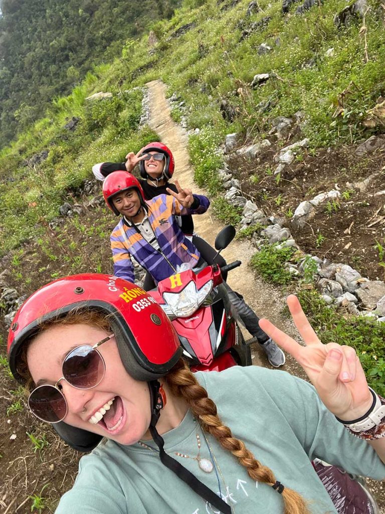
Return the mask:
[[48, 423], [57, 423], [67, 414], [66, 400], [54, 386], [40, 386], [32, 391], [28, 406], [35, 416]]

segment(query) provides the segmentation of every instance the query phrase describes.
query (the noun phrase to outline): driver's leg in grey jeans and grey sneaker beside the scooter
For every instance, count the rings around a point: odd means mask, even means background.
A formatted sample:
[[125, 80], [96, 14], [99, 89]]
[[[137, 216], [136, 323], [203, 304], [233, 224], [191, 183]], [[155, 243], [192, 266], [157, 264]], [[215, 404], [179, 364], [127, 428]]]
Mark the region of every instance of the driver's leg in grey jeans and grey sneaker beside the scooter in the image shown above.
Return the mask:
[[225, 283], [225, 286], [230, 302], [236, 307], [238, 315], [248, 332], [257, 338], [262, 350], [267, 355], [269, 363], [275, 366], [275, 368], [282, 366], [285, 363], [285, 354], [282, 352], [281, 348], [263, 332], [262, 328], [260, 328], [258, 323], [259, 318], [254, 310], [247, 305], [243, 297], [233, 291], [227, 283]]

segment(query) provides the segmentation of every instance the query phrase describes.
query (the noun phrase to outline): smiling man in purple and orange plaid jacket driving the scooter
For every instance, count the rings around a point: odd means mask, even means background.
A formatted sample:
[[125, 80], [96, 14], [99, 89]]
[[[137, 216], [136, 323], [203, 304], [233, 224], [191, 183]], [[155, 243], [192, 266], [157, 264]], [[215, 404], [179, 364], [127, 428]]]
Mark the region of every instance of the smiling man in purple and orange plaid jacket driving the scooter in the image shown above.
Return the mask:
[[[116, 171], [103, 182], [107, 206], [122, 214], [111, 233], [114, 274], [134, 281], [131, 257], [146, 269], [156, 282], [177, 273], [182, 264], [194, 268], [204, 264], [200, 253], [183, 234], [175, 216], [203, 214], [210, 202], [206, 196], [192, 194], [175, 181], [177, 192], [167, 188], [168, 195], [144, 200], [142, 187], [136, 177]], [[227, 286], [227, 284], [226, 284]], [[259, 327], [259, 318], [242, 297], [227, 286], [230, 301], [238, 310], [247, 330], [257, 338], [268, 361], [278, 368], [285, 355], [275, 342]]]

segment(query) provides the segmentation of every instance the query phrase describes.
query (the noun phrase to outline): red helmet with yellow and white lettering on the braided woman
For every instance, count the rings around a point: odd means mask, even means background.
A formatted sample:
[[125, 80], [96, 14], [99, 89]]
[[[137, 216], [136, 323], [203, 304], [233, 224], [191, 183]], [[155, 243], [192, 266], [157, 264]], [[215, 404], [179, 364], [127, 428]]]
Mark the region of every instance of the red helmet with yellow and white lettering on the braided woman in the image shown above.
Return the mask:
[[[146, 299], [146, 302], [141, 300]], [[65, 317], [73, 308], [97, 310], [117, 336], [123, 365], [136, 380], [157, 380], [166, 375], [183, 350], [177, 333], [159, 304], [144, 289], [105, 274], [85, 273], [55, 280], [30, 296], [17, 311], [8, 335], [8, 360], [16, 380], [24, 345], [38, 332], [41, 322]], [[90, 451], [101, 436], [67, 425], [54, 424], [73, 448]]]

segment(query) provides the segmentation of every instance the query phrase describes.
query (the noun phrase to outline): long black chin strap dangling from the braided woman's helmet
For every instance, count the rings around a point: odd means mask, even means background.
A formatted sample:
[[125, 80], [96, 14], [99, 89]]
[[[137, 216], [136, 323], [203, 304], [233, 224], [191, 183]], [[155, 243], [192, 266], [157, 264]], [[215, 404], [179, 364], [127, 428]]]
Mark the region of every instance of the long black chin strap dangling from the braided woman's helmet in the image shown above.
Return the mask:
[[188, 469], [186, 469], [182, 464], [172, 458], [164, 451], [164, 440], [161, 435], [158, 434], [157, 429], [155, 428], [157, 421], [160, 416], [160, 411], [163, 408], [163, 400], [159, 393], [160, 383], [158, 380], [152, 380], [148, 382], [148, 387], [150, 390], [151, 396], [151, 423], [150, 423], [150, 433], [152, 439], [155, 441], [159, 448], [159, 456], [161, 463], [166, 466], [166, 468], [173, 471], [179, 479], [183, 480], [193, 491], [195, 491], [201, 498], [206, 500], [210, 505], [213, 505], [218, 510], [223, 512], [223, 514], [231, 514], [231, 508], [227, 503], [225, 503], [214, 491], [211, 491], [207, 486], [205, 486], [200, 480], [196, 478]]

